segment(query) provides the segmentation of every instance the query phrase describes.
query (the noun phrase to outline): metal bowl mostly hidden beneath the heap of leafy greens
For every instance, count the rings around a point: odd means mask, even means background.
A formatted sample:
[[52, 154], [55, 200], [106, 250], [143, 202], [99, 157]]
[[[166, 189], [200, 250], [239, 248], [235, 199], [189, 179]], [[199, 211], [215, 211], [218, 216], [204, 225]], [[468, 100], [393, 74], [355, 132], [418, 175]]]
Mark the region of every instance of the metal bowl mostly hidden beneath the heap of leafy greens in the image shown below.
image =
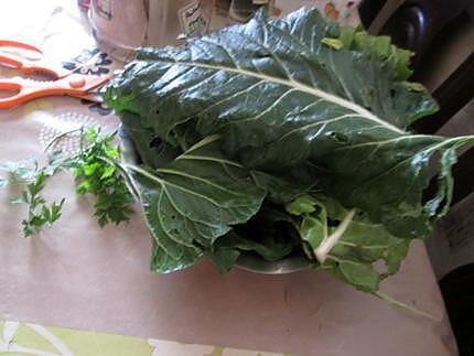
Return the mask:
[[[133, 142], [120, 127], [120, 148], [126, 163], [137, 164], [139, 157]], [[290, 255], [282, 260], [270, 262], [252, 252], [241, 252], [235, 266], [239, 269], [262, 274], [286, 274], [309, 269], [311, 263], [303, 256]]]

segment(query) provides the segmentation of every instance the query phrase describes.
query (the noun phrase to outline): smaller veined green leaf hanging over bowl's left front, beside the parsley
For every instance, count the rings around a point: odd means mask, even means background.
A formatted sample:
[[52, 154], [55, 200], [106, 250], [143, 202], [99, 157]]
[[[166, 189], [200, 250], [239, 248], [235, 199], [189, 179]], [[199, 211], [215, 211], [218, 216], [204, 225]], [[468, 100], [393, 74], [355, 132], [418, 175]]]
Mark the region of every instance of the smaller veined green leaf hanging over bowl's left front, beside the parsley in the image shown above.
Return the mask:
[[208, 137], [166, 165], [147, 170], [126, 164], [155, 242], [152, 267], [177, 270], [194, 263], [203, 249], [246, 223], [260, 208], [266, 192], [248, 170], [226, 160]]

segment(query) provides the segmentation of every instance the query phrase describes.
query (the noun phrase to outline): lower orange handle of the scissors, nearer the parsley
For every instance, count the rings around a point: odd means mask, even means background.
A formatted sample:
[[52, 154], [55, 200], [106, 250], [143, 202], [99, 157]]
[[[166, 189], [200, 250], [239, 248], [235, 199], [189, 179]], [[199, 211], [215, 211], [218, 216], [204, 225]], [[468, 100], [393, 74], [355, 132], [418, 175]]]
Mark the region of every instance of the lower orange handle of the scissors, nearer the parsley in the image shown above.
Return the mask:
[[72, 74], [54, 82], [36, 82], [20, 77], [0, 80], [0, 90], [13, 93], [12, 96], [0, 99], [0, 109], [10, 109], [22, 103], [51, 95], [68, 95], [86, 98], [89, 90], [101, 86], [110, 78], [111, 75], [93, 77]]

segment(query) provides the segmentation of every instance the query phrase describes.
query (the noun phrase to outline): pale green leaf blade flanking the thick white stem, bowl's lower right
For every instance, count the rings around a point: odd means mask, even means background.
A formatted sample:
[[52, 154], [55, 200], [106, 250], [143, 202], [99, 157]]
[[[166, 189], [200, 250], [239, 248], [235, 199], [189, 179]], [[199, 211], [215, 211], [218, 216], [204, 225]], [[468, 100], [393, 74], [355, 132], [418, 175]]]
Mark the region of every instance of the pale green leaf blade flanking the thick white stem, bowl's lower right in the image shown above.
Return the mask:
[[[327, 206], [327, 207], [326, 207]], [[313, 250], [331, 235], [347, 212], [337, 203], [317, 196], [304, 196], [287, 205], [300, 215], [300, 236]], [[365, 292], [377, 292], [379, 283], [400, 268], [407, 256], [409, 240], [392, 236], [380, 224], [373, 224], [364, 215], [356, 216], [335, 246], [328, 251], [321, 268]]]

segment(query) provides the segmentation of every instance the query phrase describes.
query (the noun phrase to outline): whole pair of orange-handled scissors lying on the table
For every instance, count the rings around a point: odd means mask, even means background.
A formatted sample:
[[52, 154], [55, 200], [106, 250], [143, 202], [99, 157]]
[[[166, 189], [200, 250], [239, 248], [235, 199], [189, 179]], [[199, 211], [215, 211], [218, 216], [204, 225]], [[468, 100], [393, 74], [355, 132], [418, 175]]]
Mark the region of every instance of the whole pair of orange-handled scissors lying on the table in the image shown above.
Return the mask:
[[1, 46], [32, 51], [39, 58], [28, 60], [13, 53], [0, 52], [0, 65], [17, 68], [21, 73], [29, 75], [45, 74], [52, 77], [53, 80], [39, 82], [23, 77], [0, 79], [0, 90], [14, 93], [10, 97], [0, 98], [0, 109], [13, 108], [25, 101], [51, 95], [68, 95], [97, 101], [98, 99], [90, 95], [90, 91], [103, 86], [112, 76], [111, 74], [91, 76], [65, 69], [58, 64], [44, 60], [43, 52], [31, 44], [0, 40]]

